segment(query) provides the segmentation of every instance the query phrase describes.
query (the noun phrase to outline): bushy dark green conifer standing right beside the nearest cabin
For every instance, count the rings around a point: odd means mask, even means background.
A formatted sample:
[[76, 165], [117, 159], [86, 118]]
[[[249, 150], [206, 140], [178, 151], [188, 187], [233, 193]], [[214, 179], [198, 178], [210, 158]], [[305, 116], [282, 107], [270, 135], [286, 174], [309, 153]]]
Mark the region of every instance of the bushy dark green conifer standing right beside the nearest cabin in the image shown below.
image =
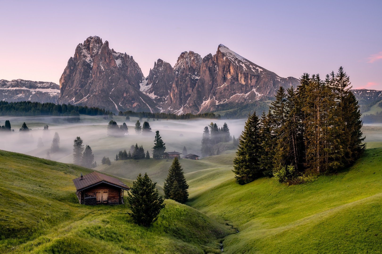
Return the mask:
[[138, 225], [148, 227], [157, 220], [160, 210], [165, 207], [155, 185], [146, 173], [143, 177], [139, 174], [128, 192], [127, 201], [131, 206], [129, 215]]

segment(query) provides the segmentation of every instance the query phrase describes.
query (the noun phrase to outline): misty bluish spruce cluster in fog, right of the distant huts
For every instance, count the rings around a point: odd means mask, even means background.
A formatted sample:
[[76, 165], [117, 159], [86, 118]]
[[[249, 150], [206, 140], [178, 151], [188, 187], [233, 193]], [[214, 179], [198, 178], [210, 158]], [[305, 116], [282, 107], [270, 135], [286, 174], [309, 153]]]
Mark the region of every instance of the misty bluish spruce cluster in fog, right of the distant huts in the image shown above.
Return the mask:
[[[231, 134], [227, 123], [224, 123], [221, 128], [216, 123], [210, 123], [210, 125], [204, 127], [202, 135], [202, 157], [214, 155], [214, 145], [220, 142], [230, 141]], [[217, 152], [219, 153], [219, 151]]]

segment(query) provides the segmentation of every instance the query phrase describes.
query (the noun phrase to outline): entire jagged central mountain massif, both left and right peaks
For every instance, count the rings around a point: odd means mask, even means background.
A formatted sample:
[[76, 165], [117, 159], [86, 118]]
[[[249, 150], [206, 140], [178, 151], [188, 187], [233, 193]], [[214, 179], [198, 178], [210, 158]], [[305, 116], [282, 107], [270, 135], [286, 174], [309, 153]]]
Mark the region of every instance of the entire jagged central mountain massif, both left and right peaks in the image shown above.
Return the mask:
[[128, 54], [110, 49], [91, 36], [78, 44], [60, 78], [58, 103], [107, 110], [204, 113], [273, 97], [278, 88], [296, 87], [299, 80], [276, 73], [219, 45], [202, 58], [180, 54], [175, 66], [158, 59], [145, 78]]

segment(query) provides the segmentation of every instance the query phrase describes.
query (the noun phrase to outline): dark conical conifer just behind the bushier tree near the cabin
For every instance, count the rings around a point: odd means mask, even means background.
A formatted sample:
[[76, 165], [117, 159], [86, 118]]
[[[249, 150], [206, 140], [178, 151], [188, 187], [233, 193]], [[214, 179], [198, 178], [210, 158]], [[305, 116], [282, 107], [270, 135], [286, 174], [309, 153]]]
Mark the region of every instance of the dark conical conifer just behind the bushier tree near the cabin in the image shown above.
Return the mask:
[[[171, 195], [171, 191], [174, 188], [174, 182], [178, 185], [176, 188], [180, 189], [181, 195], [178, 194], [178, 190], [175, 190], [177, 193], [176, 196]], [[175, 157], [168, 170], [166, 181], [163, 184], [165, 198], [170, 198], [179, 203], [185, 203], [188, 200], [188, 187], [186, 177], [183, 174], [183, 168], [181, 167], [178, 158]]]

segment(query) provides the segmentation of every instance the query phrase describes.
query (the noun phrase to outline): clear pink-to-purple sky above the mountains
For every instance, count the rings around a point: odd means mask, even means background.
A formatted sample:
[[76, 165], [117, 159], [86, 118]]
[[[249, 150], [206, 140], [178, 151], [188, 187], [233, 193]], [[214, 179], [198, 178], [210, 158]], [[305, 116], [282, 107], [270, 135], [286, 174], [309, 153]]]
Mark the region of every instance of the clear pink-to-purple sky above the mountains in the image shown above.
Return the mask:
[[353, 88], [382, 89], [382, 1], [0, 0], [0, 79], [58, 83], [78, 43], [97, 35], [146, 76], [158, 58], [222, 43], [282, 77], [342, 65]]

